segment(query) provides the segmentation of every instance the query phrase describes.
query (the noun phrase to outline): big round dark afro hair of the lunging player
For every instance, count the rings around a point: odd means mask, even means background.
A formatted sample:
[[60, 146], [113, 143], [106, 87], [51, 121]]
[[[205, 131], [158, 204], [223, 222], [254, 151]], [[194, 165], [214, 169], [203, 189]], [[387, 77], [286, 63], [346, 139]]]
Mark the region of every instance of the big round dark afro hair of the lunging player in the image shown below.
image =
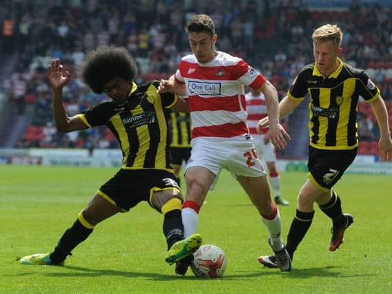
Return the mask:
[[80, 72], [92, 92], [101, 94], [104, 84], [113, 78], [133, 81], [137, 75], [137, 65], [126, 48], [108, 46], [88, 52]]

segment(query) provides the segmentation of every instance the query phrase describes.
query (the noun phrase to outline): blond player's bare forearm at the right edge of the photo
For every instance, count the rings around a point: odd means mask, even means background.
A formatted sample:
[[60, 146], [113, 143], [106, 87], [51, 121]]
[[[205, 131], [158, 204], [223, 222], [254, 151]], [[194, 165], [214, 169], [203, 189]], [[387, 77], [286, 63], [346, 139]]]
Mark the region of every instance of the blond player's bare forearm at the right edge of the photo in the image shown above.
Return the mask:
[[392, 140], [388, 124], [388, 112], [381, 96], [371, 103], [371, 108], [380, 129], [380, 140], [378, 141], [380, 158], [382, 160], [389, 160], [392, 158]]

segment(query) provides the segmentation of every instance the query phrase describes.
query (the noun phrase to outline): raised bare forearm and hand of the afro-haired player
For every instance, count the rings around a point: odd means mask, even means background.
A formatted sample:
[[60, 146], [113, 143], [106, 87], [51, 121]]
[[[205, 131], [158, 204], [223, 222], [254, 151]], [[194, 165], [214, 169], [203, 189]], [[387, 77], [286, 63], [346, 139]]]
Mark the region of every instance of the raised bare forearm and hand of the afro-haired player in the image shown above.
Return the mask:
[[59, 59], [52, 59], [48, 67], [48, 78], [53, 92], [53, 114], [57, 131], [68, 133], [76, 130], [86, 129], [87, 126], [78, 116], [68, 117], [63, 105], [63, 87], [70, 80], [70, 72], [60, 64]]

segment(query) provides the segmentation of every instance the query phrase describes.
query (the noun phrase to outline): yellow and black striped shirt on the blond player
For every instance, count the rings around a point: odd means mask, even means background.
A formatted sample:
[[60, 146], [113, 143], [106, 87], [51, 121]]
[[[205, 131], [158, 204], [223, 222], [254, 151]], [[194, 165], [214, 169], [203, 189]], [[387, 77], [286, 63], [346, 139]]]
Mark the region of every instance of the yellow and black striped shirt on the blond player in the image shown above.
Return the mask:
[[315, 64], [306, 65], [287, 96], [303, 100], [309, 94], [310, 145], [318, 149], [353, 149], [358, 145], [357, 103], [360, 96], [371, 102], [380, 90], [363, 70], [343, 63], [329, 77]]

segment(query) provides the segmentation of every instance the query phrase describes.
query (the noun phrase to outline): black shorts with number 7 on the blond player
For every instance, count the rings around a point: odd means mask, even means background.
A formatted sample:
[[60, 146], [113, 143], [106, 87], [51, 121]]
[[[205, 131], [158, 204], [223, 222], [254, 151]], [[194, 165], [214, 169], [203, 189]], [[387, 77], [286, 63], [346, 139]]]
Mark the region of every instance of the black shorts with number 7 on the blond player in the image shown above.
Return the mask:
[[349, 150], [324, 150], [309, 146], [309, 179], [317, 187], [331, 189], [351, 165], [357, 148]]

